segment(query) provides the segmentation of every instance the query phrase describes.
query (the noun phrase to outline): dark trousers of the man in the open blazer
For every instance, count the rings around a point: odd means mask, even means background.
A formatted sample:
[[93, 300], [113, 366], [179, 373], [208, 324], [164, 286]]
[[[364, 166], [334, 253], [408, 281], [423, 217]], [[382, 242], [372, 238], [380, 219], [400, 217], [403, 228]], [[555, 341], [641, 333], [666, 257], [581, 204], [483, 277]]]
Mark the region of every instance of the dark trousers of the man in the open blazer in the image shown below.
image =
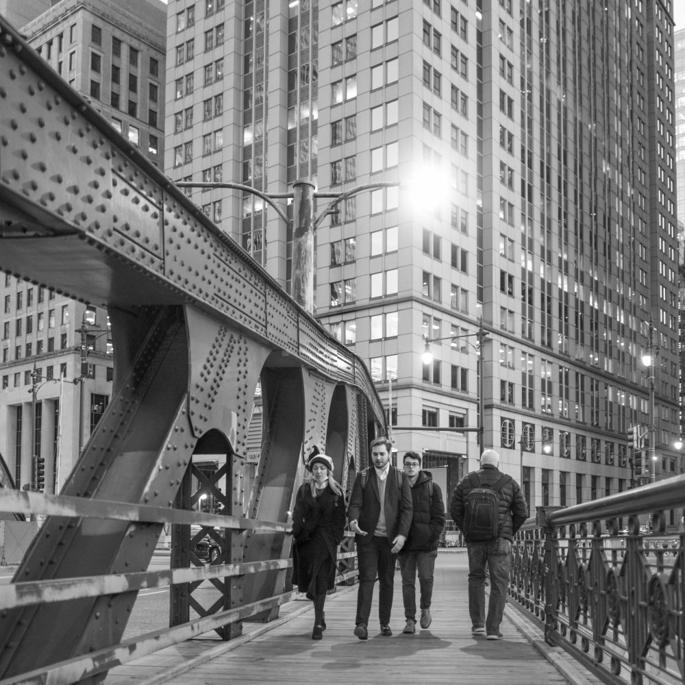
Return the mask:
[[390, 551], [390, 541], [379, 535], [372, 536], [369, 543], [357, 545], [359, 565], [359, 589], [357, 591], [356, 625], [369, 625], [373, 585], [378, 575], [378, 618], [381, 625], [390, 623], [393, 610], [393, 583], [395, 582], [395, 554]]

